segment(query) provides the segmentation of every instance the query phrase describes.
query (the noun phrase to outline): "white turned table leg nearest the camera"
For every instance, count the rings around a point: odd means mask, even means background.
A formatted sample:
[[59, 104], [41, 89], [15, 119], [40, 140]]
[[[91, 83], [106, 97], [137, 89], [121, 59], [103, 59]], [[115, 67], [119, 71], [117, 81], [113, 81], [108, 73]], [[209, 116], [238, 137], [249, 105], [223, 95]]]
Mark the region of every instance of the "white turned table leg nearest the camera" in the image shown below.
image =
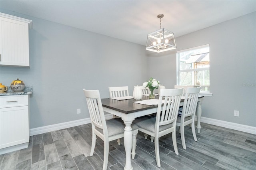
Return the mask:
[[124, 170], [132, 170], [131, 153], [132, 153], [132, 121], [124, 121], [124, 149], [126, 153], [126, 162]]

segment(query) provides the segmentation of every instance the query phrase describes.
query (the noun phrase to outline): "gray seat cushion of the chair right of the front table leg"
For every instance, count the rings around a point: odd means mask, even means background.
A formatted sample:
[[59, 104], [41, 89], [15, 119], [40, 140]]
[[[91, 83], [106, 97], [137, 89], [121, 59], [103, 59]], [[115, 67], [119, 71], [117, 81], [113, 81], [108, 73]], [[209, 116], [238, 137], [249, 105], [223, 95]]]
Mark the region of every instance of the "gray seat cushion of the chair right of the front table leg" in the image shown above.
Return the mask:
[[[137, 125], [140, 128], [143, 128], [145, 130], [148, 130], [152, 133], [155, 132], [155, 125], [156, 125], [156, 116], [147, 116], [147, 117], [141, 117], [141, 118], [136, 118], [133, 123]], [[168, 129], [172, 127], [172, 123], [168, 125], [163, 125], [159, 127], [159, 132], [162, 130]]]

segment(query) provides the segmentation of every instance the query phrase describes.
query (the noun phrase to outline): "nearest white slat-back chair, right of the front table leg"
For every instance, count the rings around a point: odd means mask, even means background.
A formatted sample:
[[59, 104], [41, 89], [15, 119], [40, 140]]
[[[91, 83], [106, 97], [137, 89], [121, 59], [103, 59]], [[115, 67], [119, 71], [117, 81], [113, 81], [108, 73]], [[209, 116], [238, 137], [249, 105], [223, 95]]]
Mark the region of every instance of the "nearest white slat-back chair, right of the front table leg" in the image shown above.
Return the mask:
[[[156, 116], [146, 116], [133, 122], [139, 131], [154, 136], [156, 164], [160, 164], [159, 137], [172, 133], [175, 154], [179, 154], [176, 142], [176, 121], [183, 89], [161, 89]], [[164, 101], [162, 105], [162, 101]]]

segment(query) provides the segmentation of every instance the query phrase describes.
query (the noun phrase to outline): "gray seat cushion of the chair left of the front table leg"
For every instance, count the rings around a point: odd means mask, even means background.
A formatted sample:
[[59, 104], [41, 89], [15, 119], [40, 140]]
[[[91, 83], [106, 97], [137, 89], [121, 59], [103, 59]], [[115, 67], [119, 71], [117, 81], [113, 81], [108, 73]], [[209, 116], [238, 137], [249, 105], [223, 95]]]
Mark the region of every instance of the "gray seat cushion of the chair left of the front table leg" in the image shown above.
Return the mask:
[[[106, 125], [108, 128], [108, 136], [124, 133], [125, 124], [124, 121], [122, 121], [122, 119], [120, 118], [106, 120]], [[132, 124], [131, 127], [132, 130], [138, 129], [138, 126], [134, 124]], [[101, 128], [95, 128], [96, 130], [103, 134], [103, 130]]]

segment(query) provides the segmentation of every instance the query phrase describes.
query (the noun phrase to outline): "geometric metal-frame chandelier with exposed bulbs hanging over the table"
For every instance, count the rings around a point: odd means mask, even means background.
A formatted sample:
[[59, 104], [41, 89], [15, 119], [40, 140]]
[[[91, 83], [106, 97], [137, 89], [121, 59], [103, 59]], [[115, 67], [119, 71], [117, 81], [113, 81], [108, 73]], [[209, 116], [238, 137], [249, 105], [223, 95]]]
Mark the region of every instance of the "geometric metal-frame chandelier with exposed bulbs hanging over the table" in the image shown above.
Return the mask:
[[168, 51], [176, 49], [176, 43], [174, 39], [174, 33], [161, 28], [161, 18], [164, 17], [164, 14], [159, 14], [157, 18], [160, 18], [160, 30], [156, 30], [148, 34], [146, 50], [154, 51], [160, 53], [163, 51]]

